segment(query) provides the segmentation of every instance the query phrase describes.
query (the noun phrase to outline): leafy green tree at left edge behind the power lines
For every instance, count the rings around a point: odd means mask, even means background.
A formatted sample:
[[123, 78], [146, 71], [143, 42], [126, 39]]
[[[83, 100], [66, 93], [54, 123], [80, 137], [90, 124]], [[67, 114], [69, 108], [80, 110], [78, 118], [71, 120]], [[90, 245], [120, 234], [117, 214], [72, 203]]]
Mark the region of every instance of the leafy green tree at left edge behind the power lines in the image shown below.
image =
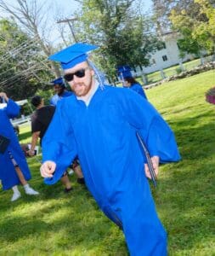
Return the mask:
[[0, 20], [0, 90], [14, 100], [35, 93], [47, 77], [39, 45], [22, 32], [13, 20]]

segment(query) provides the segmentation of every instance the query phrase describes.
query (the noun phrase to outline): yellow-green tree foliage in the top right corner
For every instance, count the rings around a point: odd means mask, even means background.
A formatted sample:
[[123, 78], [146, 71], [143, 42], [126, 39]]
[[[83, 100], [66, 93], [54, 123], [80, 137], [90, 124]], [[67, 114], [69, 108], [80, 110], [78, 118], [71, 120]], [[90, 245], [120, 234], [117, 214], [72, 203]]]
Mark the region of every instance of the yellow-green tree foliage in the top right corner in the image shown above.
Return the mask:
[[208, 0], [195, 0], [194, 10], [173, 9], [170, 20], [173, 29], [180, 32], [182, 38], [178, 40], [181, 54], [191, 53], [201, 55], [202, 50], [214, 52], [215, 45], [215, 12]]

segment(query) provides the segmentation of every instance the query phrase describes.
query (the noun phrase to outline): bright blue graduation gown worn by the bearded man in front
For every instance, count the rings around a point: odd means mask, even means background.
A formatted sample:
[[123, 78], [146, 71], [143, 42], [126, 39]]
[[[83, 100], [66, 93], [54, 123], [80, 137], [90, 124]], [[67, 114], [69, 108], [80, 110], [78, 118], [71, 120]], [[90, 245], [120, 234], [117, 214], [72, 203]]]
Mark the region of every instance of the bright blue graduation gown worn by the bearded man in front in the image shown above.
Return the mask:
[[56, 183], [77, 154], [88, 189], [101, 210], [122, 225], [131, 255], [166, 255], [166, 232], [144, 174], [136, 131], [151, 156], [159, 155], [162, 162], [180, 159], [173, 131], [133, 90], [99, 88], [88, 107], [76, 96], [63, 99], [42, 140], [43, 161], [57, 164], [45, 183]]

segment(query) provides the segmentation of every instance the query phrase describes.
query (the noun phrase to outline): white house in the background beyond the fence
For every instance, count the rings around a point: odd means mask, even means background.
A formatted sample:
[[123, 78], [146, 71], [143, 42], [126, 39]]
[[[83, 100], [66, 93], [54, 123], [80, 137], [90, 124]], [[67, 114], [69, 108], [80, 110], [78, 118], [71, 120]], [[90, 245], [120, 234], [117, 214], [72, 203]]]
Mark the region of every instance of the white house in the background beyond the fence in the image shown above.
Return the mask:
[[156, 71], [162, 71], [162, 69], [171, 67], [174, 65], [181, 65], [182, 62], [193, 59], [193, 55], [185, 55], [183, 59], [179, 57], [178, 49], [178, 33], [167, 32], [160, 38], [162, 42], [161, 47], [156, 52], [150, 55], [150, 65], [148, 67], [136, 67], [135, 71], [132, 71], [133, 76], [140, 76], [142, 73], [153, 73]]

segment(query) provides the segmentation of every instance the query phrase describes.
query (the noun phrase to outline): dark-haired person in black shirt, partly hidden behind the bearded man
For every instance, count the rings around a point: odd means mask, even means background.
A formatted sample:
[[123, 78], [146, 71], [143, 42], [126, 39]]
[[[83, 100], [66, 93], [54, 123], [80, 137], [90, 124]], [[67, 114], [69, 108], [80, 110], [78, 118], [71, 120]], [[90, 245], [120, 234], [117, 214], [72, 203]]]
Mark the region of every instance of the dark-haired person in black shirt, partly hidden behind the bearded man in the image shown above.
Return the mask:
[[[31, 114], [32, 138], [31, 149], [28, 151], [28, 154], [33, 156], [35, 154], [35, 147], [37, 145], [38, 138], [40, 138], [40, 145], [42, 145], [42, 137], [45, 135], [48, 125], [54, 116], [55, 107], [45, 106], [41, 96], [33, 96], [31, 98], [31, 104], [37, 108], [35, 112]], [[78, 173], [76, 172], [76, 169], [78, 169]], [[83, 178], [82, 171], [79, 166], [74, 168], [74, 171], [76, 172], [78, 178]], [[71, 182], [67, 172], [65, 172], [64, 176], [61, 177], [61, 182], [65, 185], [65, 192], [71, 191]]]

